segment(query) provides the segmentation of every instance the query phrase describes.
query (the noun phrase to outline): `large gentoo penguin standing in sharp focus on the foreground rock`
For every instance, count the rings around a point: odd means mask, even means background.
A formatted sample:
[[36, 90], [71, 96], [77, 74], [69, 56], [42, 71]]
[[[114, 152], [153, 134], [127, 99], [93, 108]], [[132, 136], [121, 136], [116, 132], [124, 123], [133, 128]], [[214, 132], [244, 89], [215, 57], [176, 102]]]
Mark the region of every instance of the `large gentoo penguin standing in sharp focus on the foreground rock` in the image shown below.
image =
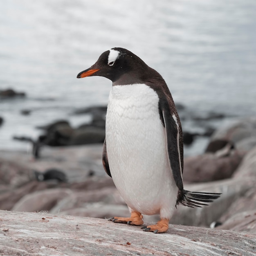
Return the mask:
[[128, 205], [130, 218], [115, 223], [143, 225], [143, 216], [160, 214], [144, 231], [164, 233], [178, 204], [201, 207], [218, 193], [183, 189], [183, 138], [180, 118], [162, 76], [123, 48], [103, 52], [77, 78], [112, 81], [106, 115], [103, 166]]

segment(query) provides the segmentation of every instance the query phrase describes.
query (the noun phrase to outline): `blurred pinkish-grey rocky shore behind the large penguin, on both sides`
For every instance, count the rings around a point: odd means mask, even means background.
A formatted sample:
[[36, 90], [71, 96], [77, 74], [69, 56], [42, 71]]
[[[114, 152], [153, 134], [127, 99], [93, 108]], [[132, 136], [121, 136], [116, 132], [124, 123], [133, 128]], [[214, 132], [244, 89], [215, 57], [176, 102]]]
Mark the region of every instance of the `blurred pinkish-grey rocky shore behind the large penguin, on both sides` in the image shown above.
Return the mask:
[[[256, 118], [249, 118], [221, 128], [212, 135], [209, 152], [185, 158], [185, 189], [222, 196], [200, 209], [179, 206], [171, 223], [209, 227], [218, 221], [222, 224], [218, 229], [256, 233], [255, 127]], [[0, 209], [97, 218], [128, 215], [103, 170], [101, 153], [102, 144], [44, 145], [39, 158], [2, 150]], [[145, 220], [157, 217], [145, 216]]]

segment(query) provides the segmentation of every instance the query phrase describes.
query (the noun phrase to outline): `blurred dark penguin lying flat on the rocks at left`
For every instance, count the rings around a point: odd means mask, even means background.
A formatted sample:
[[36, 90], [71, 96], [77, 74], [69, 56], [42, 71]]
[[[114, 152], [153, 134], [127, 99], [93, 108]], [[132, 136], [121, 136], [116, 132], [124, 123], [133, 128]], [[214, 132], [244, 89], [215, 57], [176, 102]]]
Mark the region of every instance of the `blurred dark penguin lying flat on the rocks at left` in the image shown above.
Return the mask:
[[52, 168], [44, 172], [38, 172], [34, 170], [34, 175], [37, 181], [46, 181], [46, 180], [58, 180], [59, 182], [67, 182], [66, 174], [58, 169]]

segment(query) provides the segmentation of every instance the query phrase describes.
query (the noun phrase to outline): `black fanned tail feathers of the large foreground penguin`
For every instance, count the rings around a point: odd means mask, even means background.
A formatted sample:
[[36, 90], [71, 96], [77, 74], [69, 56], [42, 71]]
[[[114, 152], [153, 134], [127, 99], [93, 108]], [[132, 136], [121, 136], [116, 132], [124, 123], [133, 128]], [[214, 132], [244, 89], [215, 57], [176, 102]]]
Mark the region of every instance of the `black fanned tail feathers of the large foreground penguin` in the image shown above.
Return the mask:
[[209, 205], [215, 199], [219, 198], [221, 193], [207, 193], [207, 192], [191, 192], [187, 190], [180, 190], [177, 196], [177, 205], [182, 204], [188, 207], [202, 207], [202, 205]]

